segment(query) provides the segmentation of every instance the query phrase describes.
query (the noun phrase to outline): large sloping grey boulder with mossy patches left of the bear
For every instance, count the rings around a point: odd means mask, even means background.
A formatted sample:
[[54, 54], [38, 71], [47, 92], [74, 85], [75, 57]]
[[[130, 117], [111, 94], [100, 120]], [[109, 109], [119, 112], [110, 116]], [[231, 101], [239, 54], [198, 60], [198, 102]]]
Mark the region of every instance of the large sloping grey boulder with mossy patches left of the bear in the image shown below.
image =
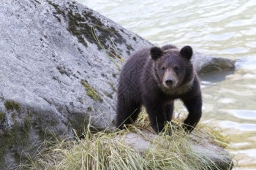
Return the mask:
[[75, 1], [3, 0], [0, 9], [0, 169], [53, 133], [79, 135], [89, 120], [112, 126], [121, 66], [152, 44]]

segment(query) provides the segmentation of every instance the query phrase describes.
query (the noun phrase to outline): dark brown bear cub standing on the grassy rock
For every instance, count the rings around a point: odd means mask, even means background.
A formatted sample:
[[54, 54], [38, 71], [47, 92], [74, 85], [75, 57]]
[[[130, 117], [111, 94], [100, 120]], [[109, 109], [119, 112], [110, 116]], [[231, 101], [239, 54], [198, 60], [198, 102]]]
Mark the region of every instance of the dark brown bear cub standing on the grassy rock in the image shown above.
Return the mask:
[[190, 59], [192, 47], [151, 47], [132, 55], [121, 70], [116, 127], [135, 122], [142, 105], [158, 134], [173, 117], [173, 101], [181, 99], [189, 112], [184, 129], [192, 131], [202, 115], [200, 82]]

